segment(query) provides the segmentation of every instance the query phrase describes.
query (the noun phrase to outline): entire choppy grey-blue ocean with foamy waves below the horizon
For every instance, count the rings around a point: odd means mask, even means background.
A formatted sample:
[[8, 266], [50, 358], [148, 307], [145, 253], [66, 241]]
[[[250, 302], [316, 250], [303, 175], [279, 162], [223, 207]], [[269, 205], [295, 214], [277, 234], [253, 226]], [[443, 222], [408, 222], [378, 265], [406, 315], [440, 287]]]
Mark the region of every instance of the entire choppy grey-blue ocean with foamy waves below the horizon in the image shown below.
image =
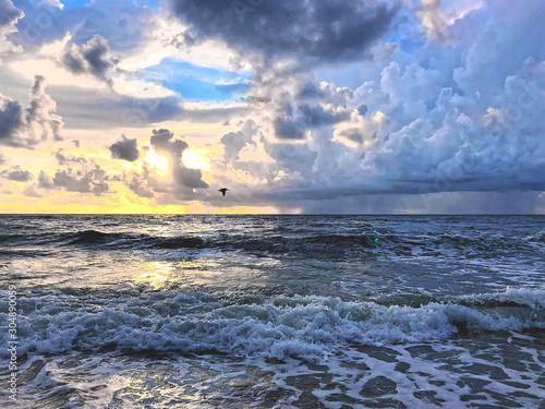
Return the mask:
[[0, 289], [5, 407], [545, 408], [543, 216], [3, 215]]

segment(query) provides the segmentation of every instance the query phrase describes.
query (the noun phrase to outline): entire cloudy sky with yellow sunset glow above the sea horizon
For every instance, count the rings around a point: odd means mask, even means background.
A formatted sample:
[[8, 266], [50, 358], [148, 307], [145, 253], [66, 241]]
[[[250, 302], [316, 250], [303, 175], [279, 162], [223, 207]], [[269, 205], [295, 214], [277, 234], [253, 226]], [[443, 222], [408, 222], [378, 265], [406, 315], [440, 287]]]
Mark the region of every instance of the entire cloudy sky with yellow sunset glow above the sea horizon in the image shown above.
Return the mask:
[[0, 213], [544, 214], [543, 38], [543, 0], [0, 0]]

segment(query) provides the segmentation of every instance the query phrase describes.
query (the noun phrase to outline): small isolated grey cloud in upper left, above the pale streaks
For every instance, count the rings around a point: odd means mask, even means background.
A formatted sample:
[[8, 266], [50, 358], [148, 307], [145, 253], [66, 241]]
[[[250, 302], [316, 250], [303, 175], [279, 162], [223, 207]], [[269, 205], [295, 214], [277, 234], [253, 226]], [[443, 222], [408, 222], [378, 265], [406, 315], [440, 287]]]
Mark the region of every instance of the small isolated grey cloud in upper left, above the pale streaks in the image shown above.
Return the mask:
[[116, 68], [118, 60], [111, 57], [108, 41], [95, 35], [83, 46], [71, 44], [61, 59], [62, 64], [74, 74], [89, 74], [113, 85], [108, 72]]

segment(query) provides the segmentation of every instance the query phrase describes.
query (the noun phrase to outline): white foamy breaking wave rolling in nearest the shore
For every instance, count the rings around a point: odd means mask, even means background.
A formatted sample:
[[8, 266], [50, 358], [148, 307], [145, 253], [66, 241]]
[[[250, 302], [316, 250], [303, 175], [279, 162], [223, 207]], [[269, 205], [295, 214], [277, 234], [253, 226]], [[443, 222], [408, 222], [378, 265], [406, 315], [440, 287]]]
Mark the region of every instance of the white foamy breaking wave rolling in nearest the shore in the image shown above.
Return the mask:
[[[465, 296], [419, 308], [314, 296], [241, 304], [183, 292], [93, 302], [48, 293], [20, 297], [17, 304], [24, 311], [17, 323], [20, 353], [104, 347], [316, 360], [348, 345], [545, 328], [544, 290]], [[7, 342], [7, 311], [0, 313], [0, 329]]]

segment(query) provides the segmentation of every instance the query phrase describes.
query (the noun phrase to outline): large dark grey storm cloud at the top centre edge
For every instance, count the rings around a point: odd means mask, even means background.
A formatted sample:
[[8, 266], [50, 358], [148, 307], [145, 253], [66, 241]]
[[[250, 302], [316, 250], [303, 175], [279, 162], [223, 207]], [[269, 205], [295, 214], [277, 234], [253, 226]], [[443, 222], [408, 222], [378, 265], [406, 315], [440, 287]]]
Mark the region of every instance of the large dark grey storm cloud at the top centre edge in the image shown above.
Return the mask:
[[265, 59], [313, 56], [325, 62], [360, 57], [397, 11], [392, 2], [358, 0], [263, 0], [256, 8], [225, 0], [171, 3], [194, 41], [217, 38]]

